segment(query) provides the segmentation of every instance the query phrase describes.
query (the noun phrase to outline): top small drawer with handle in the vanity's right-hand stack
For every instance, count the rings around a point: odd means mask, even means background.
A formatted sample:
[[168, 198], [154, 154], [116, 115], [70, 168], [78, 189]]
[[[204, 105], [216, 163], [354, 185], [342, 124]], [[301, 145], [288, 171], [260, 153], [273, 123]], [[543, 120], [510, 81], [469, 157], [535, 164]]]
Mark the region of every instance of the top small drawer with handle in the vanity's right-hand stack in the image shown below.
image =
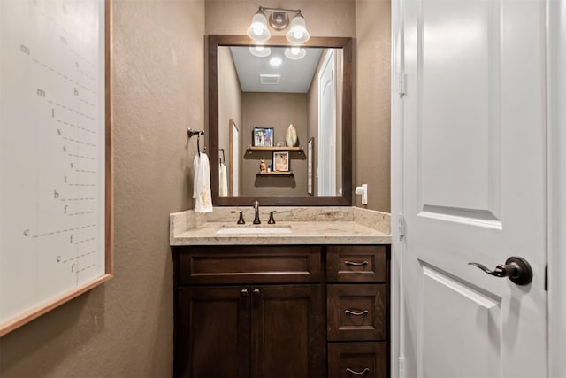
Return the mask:
[[333, 246], [327, 250], [326, 274], [330, 282], [386, 282], [385, 246]]

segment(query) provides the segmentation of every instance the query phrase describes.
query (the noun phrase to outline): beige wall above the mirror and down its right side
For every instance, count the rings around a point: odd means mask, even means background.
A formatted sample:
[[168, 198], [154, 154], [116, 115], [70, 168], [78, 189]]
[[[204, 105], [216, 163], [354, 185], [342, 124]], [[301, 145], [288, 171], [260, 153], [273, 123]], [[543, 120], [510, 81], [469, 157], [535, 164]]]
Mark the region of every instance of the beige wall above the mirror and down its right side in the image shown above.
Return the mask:
[[[206, 34], [244, 34], [259, 5], [282, 6], [278, 0], [206, 0]], [[368, 184], [369, 204], [362, 205], [359, 196], [354, 201], [357, 206], [389, 212], [390, 1], [294, 0], [285, 7], [302, 10], [311, 35], [356, 37], [353, 176], [355, 186]]]

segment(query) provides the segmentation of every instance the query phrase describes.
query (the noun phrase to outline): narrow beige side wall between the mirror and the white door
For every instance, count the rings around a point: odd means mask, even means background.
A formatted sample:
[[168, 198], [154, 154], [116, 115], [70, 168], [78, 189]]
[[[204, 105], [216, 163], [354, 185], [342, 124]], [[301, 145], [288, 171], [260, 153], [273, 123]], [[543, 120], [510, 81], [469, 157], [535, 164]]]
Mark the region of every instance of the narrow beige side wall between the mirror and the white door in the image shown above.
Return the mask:
[[389, 0], [356, 0], [356, 185], [368, 184], [367, 208], [382, 212], [391, 211], [390, 13]]

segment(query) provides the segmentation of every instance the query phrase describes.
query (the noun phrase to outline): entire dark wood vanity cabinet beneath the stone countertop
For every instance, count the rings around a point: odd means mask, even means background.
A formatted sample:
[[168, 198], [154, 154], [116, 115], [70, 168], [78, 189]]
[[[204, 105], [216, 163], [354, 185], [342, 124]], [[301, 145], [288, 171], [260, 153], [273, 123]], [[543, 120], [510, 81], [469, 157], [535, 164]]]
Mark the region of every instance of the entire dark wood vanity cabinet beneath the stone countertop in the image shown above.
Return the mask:
[[[174, 248], [175, 375], [385, 377], [387, 251], [374, 246]], [[344, 253], [355, 256], [344, 258]], [[338, 277], [347, 281], [329, 281], [340, 264]], [[368, 274], [371, 269], [385, 272], [383, 281]], [[356, 281], [359, 274], [370, 281]]]

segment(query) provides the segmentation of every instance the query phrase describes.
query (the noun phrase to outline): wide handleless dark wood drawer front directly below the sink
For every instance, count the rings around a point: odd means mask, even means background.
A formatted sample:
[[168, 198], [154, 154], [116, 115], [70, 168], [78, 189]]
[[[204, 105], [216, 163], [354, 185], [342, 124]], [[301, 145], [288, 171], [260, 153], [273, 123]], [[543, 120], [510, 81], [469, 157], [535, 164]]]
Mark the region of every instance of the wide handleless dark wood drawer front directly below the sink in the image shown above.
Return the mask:
[[181, 285], [321, 281], [320, 247], [185, 247], [179, 253]]

